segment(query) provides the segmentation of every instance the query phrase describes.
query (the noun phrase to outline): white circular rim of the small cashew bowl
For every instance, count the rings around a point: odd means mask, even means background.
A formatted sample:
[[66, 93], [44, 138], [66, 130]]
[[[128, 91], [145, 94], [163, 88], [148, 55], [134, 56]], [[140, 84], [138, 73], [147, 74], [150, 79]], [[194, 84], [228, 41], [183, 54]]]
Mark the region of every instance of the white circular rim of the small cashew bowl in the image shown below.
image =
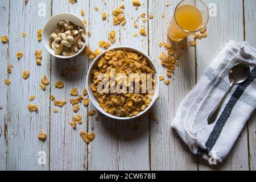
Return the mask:
[[[75, 16], [76, 18], [78, 18], [78, 19], [81, 21], [82, 25], [83, 25], [82, 28], [84, 28], [84, 30], [85, 30], [85, 35], [87, 35], [87, 34], [86, 34], [87, 28], [86, 28], [84, 22], [81, 20], [81, 18], [79, 18], [79, 16], [77, 16], [77, 15], [75, 15], [75, 14], [72, 14], [72, 13], [57, 13], [57, 14], [55, 14], [55, 15], [52, 15], [52, 16], [46, 21], [46, 23], [44, 24], [44, 27], [46, 27], [46, 25], [49, 23], [49, 21], [50, 21], [54, 16], [63, 15], [63, 14], [67, 14], [67, 15], [69, 15], [69, 16]], [[45, 28], [44, 28], [44, 27], [43, 27], [43, 31], [42, 31], [42, 37], [44, 37], [43, 35], [45, 34]], [[60, 59], [69, 59], [69, 58], [72, 58], [72, 57], [76, 57], [77, 55], [80, 55], [80, 53], [84, 50], [84, 48], [85, 48], [85, 46], [86, 46], [87, 39], [88, 39], [88, 37], [86, 36], [85, 43], [84, 43], [84, 45], [82, 46], [82, 48], [80, 49], [80, 51], [77, 52], [77, 53], [75, 53], [75, 55], [72, 55], [72, 56], [55, 55], [54, 53], [48, 51], [48, 48], [47, 48], [47, 47], [49, 46], [48, 42], [46, 42], [43, 38], [42, 38], [42, 41], [43, 41], [43, 44], [44, 44], [44, 48], [46, 48], [47, 52], [49, 52], [52, 56], [57, 57], [57, 58], [60, 58]]]

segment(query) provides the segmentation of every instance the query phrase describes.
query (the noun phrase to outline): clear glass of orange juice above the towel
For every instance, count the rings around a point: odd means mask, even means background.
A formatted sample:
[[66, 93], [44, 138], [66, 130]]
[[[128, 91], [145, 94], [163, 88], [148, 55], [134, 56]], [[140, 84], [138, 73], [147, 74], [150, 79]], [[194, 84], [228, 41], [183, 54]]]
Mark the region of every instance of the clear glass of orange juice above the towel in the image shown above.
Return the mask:
[[175, 8], [168, 27], [168, 37], [180, 41], [202, 30], [208, 23], [209, 10], [201, 0], [183, 0]]

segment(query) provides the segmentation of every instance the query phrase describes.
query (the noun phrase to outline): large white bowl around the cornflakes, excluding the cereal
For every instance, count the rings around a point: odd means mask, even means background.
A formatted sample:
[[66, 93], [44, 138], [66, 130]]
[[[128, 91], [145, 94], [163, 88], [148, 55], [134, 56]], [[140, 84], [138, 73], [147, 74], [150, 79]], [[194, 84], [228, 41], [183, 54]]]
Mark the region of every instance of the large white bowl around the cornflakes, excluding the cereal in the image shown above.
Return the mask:
[[[110, 48], [110, 49], [108, 49], [108, 50], [106, 50], [106, 51], [111, 51], [111, 50], [116, 50], [116, 51], [117, 51], [117, 50], [123, 50], [123, 49], [126, 49], [127, 52], [135, 52], [135, 53], [138, 53], [139, 55], [145, 56], [146, 59], [147, 59], [147, 61], [148, 61], [148, 64], [149, 64], [150, 67], [152, 68], [152, 70], [153, 70], [155, 73], [158, 73], [158, 72], [156, 71], [155, 65], [154, 65], [154, 63], [151, 61], [151, 59], [150, 59], [146, 54], [144, 54], [142, 51], [139, 51], [138, 49], [131, 48], [131, 47], [123, 47], [123, 46], [121, 46], [121, 47], [113, 47], [113, 48]], [[100, 55], [98, 55], [98, 56], [96, 57], [96, 59], [94, 59], [93, 63], [90, 65], [90, 68], [89, 68], [89, 70], [88, 70], [88, 72], [87, 72], [87, 75], [86, 75], [86, 88], [87, 88], [87, 90], [88, 90], [88, 96], [89, 96], [90, 102], [92, 102], [92, 104], [94, 105], [94, 107], [96, 107], [96, 109], [97, 109], [98, 111], [100, 111], [102, 114], [104, 114], [104, 115], [106, 115], [106, 116], [108, 116], [108, 117], [110, 117], [110, 118], [119, 119], [119, 120], [128, 120], [128, 119], [137, 118], [137, 117], [141, 116], [142, 114], [146, 113], [146, 112], [148, 111], [148, 109], [150, 109], [150, 107], [154, 104], [156, 98], [158, 97], [158, 92], [159, 92], [159, 77], [156, 76], [156, 80], [155, 80], [155, 83], [156, 83], [156, 84], [155, 84], [155, 92], [154, 92], [153, 99], [152, 99], [151, 102], [150, 102], [150, 105], [148, 105], [148, 106], [146, 107], [146, 109], [143, 110], [143, 111], [141, 111], [137, 116], [133, 116], [133, 117], [118, 117], [118, 116], [116, 116], [116, 115], [109, 114], [109, 113], [107, 113], [106, 111], [104, 111], [104, 109], [102, 109], [101, 106], [98, 105], [98, 101], [97, 101], [97, 99], [94, 97], [93, 92], [92, 92], [92, 90], [90, 90], [90, 86], [89, 86], [90, 83], [91, 83], [91, 81], [92, 81], [92, 79], [91, 79], [91, 76], [92, 76], [92, 75], [91, 75], [90, 73], [92, 72], [93, 68], [97, 65], [98, 60], [100, 60], [101, 57], [105, 55], [106, 51], [102, 52]]]

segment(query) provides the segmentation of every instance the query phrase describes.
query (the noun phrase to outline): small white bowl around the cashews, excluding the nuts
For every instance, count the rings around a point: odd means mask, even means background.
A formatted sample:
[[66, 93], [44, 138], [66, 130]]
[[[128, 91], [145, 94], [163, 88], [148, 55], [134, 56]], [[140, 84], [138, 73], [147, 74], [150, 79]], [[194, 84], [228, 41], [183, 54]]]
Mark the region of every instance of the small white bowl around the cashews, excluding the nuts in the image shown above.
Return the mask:
[[[49, 46], [49, 37], [54, 31], [54, 28], [56, 27], [57, 23], [59, 23], [60, 20], [65, 20], [66, 22], [71, 21], [75, 23], [77, 26], [82, 27], [85, 31], [85, 35], [86, 35], [86, 27], [84, 22], [82, 22], [82, 20], [78, 16], [71, 13], [59, 13], [59, 14], [53, 15], [51, 18], [47, 20], [46, 24], [44, 25], [43, 32], [42, 32], [42, 40], [43, 40], [44, 47], [52, 56], [58, 57], [60, 59], [69, 59], [71, 57], [75, 57], [79, 55], [82, 52], [82, 50], [85, 48], [85, 43], [80, 49], [80, 51], [77, 52], [75, 55], [72, 55], [72, 56], [55, 55], [55, 52]], [[87, 41], [87, 38], [85, 39], [85, 42], [86, 41]]]

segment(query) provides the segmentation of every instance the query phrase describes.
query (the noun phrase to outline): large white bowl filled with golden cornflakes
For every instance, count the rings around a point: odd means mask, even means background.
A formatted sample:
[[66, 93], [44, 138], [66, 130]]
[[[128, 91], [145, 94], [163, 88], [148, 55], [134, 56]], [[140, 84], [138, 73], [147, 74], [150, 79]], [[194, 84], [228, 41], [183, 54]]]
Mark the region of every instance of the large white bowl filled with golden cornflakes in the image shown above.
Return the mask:
[[138, 49], [115, 47], [102, 52], [86, 76], [90, 101], [102, 114], [133, 119], [154, 104], [159, 77], [150, 58]]

